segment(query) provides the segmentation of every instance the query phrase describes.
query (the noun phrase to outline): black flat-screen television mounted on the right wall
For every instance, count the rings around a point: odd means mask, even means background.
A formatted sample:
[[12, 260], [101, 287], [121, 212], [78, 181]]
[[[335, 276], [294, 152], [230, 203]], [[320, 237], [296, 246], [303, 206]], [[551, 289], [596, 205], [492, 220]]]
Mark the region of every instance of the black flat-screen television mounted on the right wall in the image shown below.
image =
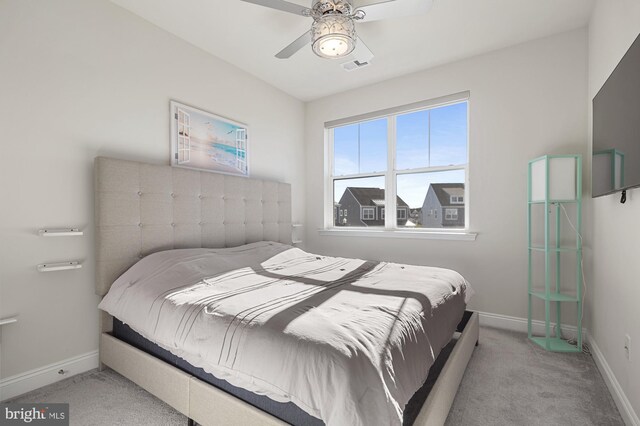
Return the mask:
[[593, 197], [640, 186], [640, 36], [593, 98]]

